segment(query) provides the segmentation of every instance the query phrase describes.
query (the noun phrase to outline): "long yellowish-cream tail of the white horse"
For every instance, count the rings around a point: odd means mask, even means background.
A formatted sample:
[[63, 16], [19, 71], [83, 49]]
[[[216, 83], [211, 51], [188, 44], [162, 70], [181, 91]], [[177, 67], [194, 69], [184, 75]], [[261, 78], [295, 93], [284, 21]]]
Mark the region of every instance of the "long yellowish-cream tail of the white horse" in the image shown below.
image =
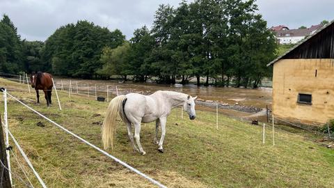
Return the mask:
[[114, 97], [109, 103], [109, 107], [106, 111], [106, 118], [104, 118], [102, 125], [102, 142], [104, 149], [108, 149], [111, 146], [113, 150], [114, 136], [116, 134], [116, 117], [120, 113], [120, 116], [125, 117], [123, 110], [123, 101], [127, 97], [125, 95], [119, 95]]

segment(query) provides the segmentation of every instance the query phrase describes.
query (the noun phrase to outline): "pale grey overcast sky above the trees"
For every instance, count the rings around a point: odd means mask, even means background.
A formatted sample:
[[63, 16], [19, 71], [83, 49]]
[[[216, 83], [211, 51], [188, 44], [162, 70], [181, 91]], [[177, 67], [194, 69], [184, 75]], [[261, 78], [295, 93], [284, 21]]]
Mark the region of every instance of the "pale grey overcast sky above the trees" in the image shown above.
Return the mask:
[[[22, 39], [46, 40], [65, 24], [86, 19], [132, 37], [134, 29], [151, 26], [159, 4], [181, 0], [0, 0], [0, 14], [12, 19]], [[334, 19], [333, 0], [257, 0], [268, 26], [290, 29]]]

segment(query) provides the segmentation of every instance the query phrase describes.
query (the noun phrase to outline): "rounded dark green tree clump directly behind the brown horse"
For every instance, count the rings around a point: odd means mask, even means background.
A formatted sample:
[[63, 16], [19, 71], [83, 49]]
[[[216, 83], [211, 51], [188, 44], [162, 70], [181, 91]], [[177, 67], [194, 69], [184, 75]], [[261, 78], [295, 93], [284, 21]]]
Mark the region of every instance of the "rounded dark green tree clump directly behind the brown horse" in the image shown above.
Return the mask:
[[87, 21], [57, 29], [42, 49], [42, 60], [56, 75], [92, 78], [102, 68], [104, 47], [116, 48], [125, 40], [122, 32], [95, 26]]

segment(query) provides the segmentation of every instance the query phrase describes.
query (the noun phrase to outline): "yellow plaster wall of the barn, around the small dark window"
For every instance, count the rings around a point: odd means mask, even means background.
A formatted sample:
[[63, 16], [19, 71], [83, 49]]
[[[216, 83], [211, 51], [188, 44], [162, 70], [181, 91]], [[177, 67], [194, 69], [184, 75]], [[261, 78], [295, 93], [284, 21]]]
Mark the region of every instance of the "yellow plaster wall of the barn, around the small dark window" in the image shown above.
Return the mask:
[[[312, 94], [312, 104], [297, 103], [298, 93]], [[273, 114], [313, 125], [334, 118], [334, 59], [276, 62], [273, 65]]]

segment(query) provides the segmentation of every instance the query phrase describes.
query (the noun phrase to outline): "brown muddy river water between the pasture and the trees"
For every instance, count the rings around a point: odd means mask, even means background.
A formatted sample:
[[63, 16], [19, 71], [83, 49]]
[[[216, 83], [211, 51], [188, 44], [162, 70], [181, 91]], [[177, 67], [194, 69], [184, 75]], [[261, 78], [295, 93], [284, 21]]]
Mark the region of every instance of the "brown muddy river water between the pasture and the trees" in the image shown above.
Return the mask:
[[116, 86], [118, 94], [141, 93], [150, 95], [155, 91], [168, 90], [187, 93], [191, 96], [198, 96], [196, 109], [206, 111], [216, 111], [216, 102], [220, 113], [236, 118], [244, 118], [246, 120], [261, 120], [267, 121], [265, 108], [268, 106], [271, 109], [271, 88], [226, 88], [214, 86], [196, 86], [187, 84], [139, 84], [133, 82], [120, 83], [118, 81], [104, 80], [88, 80], [88, 79], [63, 79], [56, 78], [56, 87], [61, 89], [63, 82], [63, 90], [68, 91], [70, 82], [72, 85], [72, 93], [81, 95], [95, 96], [95, 85], [97, 96], [106, 97], [106, 86], [109, 88], [109, 97], [116, 95]]

